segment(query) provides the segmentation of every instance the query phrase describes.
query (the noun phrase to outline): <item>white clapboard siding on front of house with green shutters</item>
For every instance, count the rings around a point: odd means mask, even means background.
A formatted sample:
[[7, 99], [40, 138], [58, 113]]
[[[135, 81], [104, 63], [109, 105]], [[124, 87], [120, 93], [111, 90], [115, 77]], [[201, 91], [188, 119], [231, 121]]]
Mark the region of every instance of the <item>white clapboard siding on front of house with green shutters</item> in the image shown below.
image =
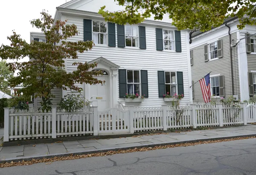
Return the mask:
[[[76, 24], [79, 34], [69, 38], [69, 41], [83, 40], [83, 19], [78, 17], [64, 17], [67, 24]], [[140, 24], [143, 26], [143, 23]], [[79, 59], [67, 60], [67, 71], [76, 70], [76, 66], [72, 66], [73, 62], [91, 61], [98, 57], [104, 57], [113, 63], [125, 69], [143, 69], [148, 70], [148, 97], [141, 106], [156, 106], [166, 104], [162, 98], [158, 97], [158, 80], [157, 71], [174, 70], [183, 72], [184, 83], [184, 99], [181, 101], [187, 104], [189, 101], [189, 77], [188, 77], [188, 58], [189, 50], [186, 46], [186, 32], [181, 31], [181, 48], [182, 52], [169, 52], [156, 50], [156, 29], [155, 27], [145, 27], [146, 32], [146, 49], [130, 49], [130, 48], [111, 48], [94, 46], [91, 51], [79, 53]], [[117, 44], [117, 31], [116, 31]], [[118, 78], [117, 78], [118, 79]], [[118, 82], [119, 84], [119, 82]], [[80, 85], [81, 86], [81, 85]], [[82, 86], [81, 86], [82, 87]], [[119, 89], [118, 89], [119, 92]], [[118, 94], [119, 97], [119, 94]]]

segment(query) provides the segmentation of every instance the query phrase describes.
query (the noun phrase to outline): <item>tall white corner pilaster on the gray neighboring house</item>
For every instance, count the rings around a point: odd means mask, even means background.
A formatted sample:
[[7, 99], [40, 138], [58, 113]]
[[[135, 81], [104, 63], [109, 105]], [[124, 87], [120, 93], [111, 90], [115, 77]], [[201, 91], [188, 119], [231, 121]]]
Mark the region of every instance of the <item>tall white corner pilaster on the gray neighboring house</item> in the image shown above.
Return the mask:
[[[237, 39], [245, 37], [245, 31], [238, 31]], [[235, 49], [235, 48], [234, 48]], [[248, 66], [245, 39], [240, 40], [237, 45], [238, 65], [239, 65], [239, 85], [241, 101], [249, 100], [249, 84], [248, 84]]]

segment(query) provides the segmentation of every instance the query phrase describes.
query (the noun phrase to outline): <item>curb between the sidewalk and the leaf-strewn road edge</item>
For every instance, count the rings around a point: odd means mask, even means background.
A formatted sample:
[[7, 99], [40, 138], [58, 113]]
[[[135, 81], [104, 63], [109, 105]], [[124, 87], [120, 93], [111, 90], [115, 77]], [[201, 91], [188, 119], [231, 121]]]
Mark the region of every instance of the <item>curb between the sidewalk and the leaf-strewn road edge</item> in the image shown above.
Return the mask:
[[[152, 143], [148, 145], [141, 145], [141, 146], [127, 146], [127, 147], [119, 147], [119, 148], [111, 148], [111, 149], [99, 149], [95, 151], [84, 151], [84, 152], [68, 152], [68, 153], [59, 153], [59, 154], [50, 154], [50, 155], [41, 155], [41, 156], [31, 156], [31, 157], [22, 157], [22, 158], [3, 158], [0, 159], [0, 164], [10, 163], [10, 162], [19, 162], [19, 161], [32, 161], [32, 159], [43, 159], [43, 158], [54, 158], [54, 157], [67, 157], [70, 155], [84, 155], [84, 154], [93, 154], [99, 152], [108, 152], [108, 151], [118, 151], [118, 150], [127, 150], [127, 149], [134, 149], [134, 148], [148, 148], [154, 146], [165, 146], [165, 145], [174, 145], [180, 143], [195, 143], [199, 141], [215, 141], [215, 140], [224, 140], [230, 138], [245, 138], [245, 137], [256, 137], [256, 134], [252, 135], [238, 135], [238, 136], [228, 136], [228, 137], [219, 137], [219, 138], [206, 138], [206, 139], [198, 139], [198, 140], [191, 140], [191, 141], [177, 141], [177, 142], [166, 142], [166, 143]], [[114, 147], [114, 145], [113, 145]]]

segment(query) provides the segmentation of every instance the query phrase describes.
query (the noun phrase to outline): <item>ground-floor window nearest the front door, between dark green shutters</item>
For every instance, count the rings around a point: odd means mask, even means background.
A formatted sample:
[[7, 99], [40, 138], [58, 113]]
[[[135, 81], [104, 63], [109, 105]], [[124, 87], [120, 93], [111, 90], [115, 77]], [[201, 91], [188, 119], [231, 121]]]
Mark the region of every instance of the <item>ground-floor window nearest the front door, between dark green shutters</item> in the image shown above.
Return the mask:
[[127, 93], [140, 95], [139, 70], [127, 70]]

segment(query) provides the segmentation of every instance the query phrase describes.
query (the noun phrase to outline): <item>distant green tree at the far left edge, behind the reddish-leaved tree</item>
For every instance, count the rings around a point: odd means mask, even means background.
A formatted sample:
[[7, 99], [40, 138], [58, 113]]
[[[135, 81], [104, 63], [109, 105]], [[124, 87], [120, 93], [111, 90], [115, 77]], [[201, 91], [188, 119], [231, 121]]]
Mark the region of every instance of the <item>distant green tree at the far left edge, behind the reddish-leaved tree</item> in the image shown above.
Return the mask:
[[8, 81], [13, 77], [13, 72], [9, 70], [9, 67], [6, 65], [6, 60], [0, 61], [0, 91], [11, 94], [10, 89], [8, 88]]

